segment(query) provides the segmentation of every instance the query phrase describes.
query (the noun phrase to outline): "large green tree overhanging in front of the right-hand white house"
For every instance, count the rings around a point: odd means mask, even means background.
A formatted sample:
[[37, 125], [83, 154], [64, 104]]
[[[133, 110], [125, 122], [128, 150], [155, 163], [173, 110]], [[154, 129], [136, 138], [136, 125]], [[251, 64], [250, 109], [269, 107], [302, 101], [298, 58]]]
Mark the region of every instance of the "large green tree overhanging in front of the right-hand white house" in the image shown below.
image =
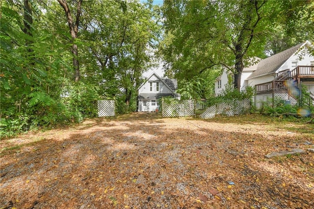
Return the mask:
[[[300, 12], [313, 7], [311, 2], [300, 4]], [[239, 89], [243, 68], [250, 57], [265, 56], [275, 26], [296, 19], [285, 13], [286, 7], [282, 1], [266, 0], [165, 0], [160, 51], [169, 72], [188, 79], [224, 66], [234, 74], [234, 87]]]

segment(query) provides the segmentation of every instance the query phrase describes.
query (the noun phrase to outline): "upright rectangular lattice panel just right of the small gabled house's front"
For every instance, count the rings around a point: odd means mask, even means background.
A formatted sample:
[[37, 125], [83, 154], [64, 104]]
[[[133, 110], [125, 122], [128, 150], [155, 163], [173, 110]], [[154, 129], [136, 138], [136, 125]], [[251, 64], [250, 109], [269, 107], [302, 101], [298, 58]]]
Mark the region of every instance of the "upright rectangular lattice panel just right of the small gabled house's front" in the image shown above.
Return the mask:
[[162, 117], [184, 117], [194, 115], [194, 100], [162, 102]]

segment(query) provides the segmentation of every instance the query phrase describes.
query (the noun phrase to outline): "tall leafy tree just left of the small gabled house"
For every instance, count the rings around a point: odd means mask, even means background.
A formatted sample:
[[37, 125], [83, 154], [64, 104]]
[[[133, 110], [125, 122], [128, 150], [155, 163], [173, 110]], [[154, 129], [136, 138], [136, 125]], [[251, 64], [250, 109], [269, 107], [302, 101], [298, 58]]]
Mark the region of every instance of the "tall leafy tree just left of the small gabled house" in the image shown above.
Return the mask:
[[83, 7], [86, 15], [81, 18], [80, 35], [86, 44], [81, 46], [80, 57], [84, 78], [100, 85], [102, 95], [118, 99], [126, 109], [136, 108], [134, 93], [157, 43], [156, 7], [136, 1], [92, 1]]

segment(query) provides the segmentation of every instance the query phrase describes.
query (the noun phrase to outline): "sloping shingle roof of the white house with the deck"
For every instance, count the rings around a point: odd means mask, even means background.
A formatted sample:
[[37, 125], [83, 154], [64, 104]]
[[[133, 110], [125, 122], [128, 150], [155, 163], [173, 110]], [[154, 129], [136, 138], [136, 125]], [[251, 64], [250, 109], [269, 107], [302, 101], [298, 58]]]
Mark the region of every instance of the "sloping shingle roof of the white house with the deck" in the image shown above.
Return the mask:
[[276, 70], [282, 66], [300, 47], [305, 45], [308, 41], [291, 47], [283, 52], [276, 53], [261, 60], [254, 71], [247, 79], [256, 78], [259, 76], [275, 73]]

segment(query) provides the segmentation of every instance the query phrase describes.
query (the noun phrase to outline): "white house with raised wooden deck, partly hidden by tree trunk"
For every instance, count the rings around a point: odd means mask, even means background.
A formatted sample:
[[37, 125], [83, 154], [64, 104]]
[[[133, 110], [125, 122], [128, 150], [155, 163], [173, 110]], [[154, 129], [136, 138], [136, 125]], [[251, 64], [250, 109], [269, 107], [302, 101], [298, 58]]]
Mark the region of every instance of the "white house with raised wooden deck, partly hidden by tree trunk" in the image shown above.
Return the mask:
[[[309, 41], [305, 41], [288, 50], [262, 59], [255, 65], [244, 68], [241, 75], [241, 90], [246, 86], [264, 86], [269, 82], [279, 79], [284, 74], [291, 74], [293, 79], [309, 85], [310, 89], [313, 88], [314, 57], [306, 50], [305, 46], [313, 47]], [[223, 74], [216, 79], [216, 96], [221, 94], [226, 88], [225, 85], [228, 83], [227, 75], [227, 71], [224, 70]], [[312, 92], [312, 90], [310, 91]]]

